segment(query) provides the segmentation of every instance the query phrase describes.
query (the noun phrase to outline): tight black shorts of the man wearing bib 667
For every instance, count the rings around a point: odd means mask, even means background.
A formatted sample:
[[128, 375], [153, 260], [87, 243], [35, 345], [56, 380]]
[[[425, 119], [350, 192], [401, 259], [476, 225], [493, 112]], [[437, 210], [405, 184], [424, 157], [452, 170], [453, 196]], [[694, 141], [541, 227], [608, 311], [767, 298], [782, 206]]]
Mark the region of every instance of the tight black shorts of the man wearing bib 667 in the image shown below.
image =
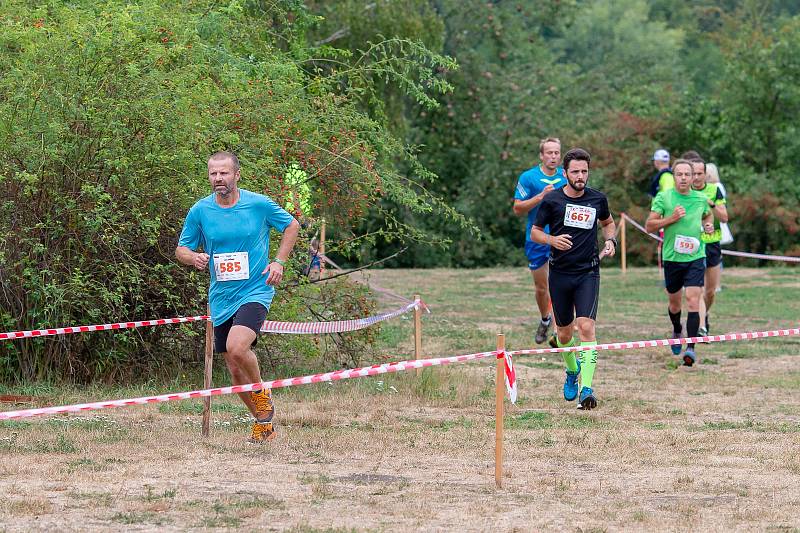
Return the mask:
[[575, 317], [597, 318], [600, 271], [568, 274], [550, 269], [550, 300], [556, 325], [569, 326]]

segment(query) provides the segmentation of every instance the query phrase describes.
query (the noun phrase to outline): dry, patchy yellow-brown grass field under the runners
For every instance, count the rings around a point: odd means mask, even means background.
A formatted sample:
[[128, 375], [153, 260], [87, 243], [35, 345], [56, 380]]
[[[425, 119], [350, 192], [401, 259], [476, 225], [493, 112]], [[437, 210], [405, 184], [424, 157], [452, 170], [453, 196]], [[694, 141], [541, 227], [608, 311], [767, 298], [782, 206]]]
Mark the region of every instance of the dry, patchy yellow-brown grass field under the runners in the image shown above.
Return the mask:
[[[602, 279], [600, 342], [666, 336], [655, 269]], [[492, 349], [499, 332], [533, 345], [525, 269], [371, 280], [423, 295], [428, 357]], [[713, 333], [796, 327], [797, 280], [726, 269]], [[378, 352], [413, 357], [412, 321], [385, 323]], [[278, 390], [280, 436], [264, 446], [244, 442], [230, 397], [214, 399], [208, 439], [199, 401], [0, 423], [0, 531], [800, 531], [798, 356], [796, 337], [699, 345], [693, 368], [664, 348], [601, 352], [591, 412], [561, 397], [560, 355], [520, 357], [502, 489], [493, 361]], [[60, 404], [156, 390], [4, 392]]]

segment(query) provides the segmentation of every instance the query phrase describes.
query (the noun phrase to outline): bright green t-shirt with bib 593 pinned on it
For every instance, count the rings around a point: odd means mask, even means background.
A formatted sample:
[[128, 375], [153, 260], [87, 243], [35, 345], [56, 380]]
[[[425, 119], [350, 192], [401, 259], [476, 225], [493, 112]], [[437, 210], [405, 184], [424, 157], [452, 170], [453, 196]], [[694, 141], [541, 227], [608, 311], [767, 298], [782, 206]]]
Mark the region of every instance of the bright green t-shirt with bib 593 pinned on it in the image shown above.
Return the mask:
[[679, 205], [686, 209], [686, 215], [677, 222], [664, 228], [664, 261], [688, 263], [706, 256], [706, 246], [702, 241], [703, 217], [711, 212], [706, 195], [690, 190], [688, 194], [680, 194], [675, 189], [659, 192], [653, 198], [650, 208], [667, 217]]

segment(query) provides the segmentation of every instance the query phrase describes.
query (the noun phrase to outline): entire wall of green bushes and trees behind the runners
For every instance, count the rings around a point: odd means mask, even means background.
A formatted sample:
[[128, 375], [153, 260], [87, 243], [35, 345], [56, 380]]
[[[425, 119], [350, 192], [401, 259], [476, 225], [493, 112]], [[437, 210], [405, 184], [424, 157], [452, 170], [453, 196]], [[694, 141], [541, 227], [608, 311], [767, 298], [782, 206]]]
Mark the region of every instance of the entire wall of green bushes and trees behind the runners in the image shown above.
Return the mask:
[[[721, 168], [733, 247], [800, 255], [800, 2], [6, 0], [0, 5], [0, 328], [201, 313], [173, 258], [236, 151], [243, 186], [314, 212], [274, 318], [364, 315], [306, 249], [355, 266], [523, 264], [511, 210], [538, 141], [594, 157], [592, 185], [643, 219], [659, 147]], [[654, 248], [630, 239], [631, 262]], [[370, 335], [268, 337], [264, 361], [357, 364]], [[196, 327], [0, 344], [0, 379], [114, 381], [199, 360]]]

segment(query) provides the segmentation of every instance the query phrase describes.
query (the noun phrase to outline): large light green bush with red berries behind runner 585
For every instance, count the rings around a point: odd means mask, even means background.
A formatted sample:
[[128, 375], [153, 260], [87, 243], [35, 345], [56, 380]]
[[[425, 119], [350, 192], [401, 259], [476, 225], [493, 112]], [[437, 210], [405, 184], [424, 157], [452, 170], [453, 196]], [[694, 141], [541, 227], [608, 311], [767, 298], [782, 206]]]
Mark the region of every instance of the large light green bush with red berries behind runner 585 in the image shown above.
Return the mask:
[[[173, 252], [188, 208], [208, 194], [205, 164], [215, 150], [237, 152], [242, 186], [279, 202], [288, 191], [282, 176], [299, 165], [316, 214], [342, 231], [381, 196], [433, 208], [391, 170], [408, 156], [403, 144], [360, 110], [366, 78], [314, 68], [336, 52], [312, 57], [303, 31], [313, 18], [301, 6], [2, 3], [0, 327], [204, 313], [206, 275], [178, 265]], [[407, 92], [425, 93], [414, 65], [423, 72], [444, 59], [420, 46], [408, 58], [390, 48], [380, 52], [383, 74], [392, 75], [399, 54]], [[353, 292], [343, 283], [332, 291]], [[293, 318], [287, 310], [302, 306], [292, 298], [305, 296], [286, 293], [276, 311]], [[331, 317], [369, 307], [340, 304]], [[200, 358], [201, 339], [185, 326], [7, 342], [0, 379], [168, 373]]]

